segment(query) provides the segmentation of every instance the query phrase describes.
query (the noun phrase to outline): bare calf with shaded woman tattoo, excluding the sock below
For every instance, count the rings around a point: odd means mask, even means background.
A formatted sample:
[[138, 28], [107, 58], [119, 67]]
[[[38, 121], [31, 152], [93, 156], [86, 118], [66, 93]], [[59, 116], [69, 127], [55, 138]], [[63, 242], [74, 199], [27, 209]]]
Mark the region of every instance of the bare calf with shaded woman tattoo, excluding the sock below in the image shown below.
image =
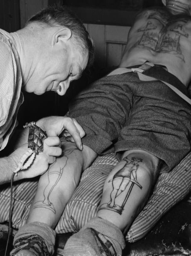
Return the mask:
[[[147, 202], [158, 177], [159, 160], [145, 151], [126, 151], [105, 181], [97, 216], [107, 219], [122, 231], [127, 229]], [[117, 193], [113, 186], [117, 181]], [[115, 204], [111, 206], [111, 199]]]

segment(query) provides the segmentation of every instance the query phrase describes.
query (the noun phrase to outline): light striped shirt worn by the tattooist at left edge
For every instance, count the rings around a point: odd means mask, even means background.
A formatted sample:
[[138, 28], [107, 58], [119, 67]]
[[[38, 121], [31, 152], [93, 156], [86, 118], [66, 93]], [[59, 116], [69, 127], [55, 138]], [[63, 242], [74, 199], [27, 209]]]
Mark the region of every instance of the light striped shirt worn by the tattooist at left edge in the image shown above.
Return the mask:
[[17, 113], [23, 103], [22, 75], [24, 47], [20, 36], [0, 29], [0, 150], [17, 126]]

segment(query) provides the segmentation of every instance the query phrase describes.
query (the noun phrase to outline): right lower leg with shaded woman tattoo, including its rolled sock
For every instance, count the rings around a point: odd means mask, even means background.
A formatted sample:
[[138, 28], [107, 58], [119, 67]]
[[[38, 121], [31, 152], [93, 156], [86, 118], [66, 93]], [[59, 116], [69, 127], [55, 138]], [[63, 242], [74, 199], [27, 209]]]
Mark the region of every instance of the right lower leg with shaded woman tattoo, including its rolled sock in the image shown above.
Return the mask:
[[123, 233], [147, 202], [158, 177], [157, 157], [140, 150], [126, 151], [104, 183], [97, 217], [71, 236], [64, 255], [118, 255]]

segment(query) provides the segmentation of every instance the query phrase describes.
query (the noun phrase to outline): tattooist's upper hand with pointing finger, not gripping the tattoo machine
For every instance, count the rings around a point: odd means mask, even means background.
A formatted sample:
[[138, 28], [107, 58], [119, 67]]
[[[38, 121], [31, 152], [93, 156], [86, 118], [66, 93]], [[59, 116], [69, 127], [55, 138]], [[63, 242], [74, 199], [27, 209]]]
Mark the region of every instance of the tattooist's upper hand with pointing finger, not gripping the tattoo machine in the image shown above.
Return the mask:
[[48, 136], [59, 136], [63, 131], [65, 137], [72, 136], [70, 141], [75, 142], [79, 150], [82, 150], [81, 138], [84, 130], [74, 118], [70, 117], [44, 117], [37, 121], [37, 125], [45, 130]]

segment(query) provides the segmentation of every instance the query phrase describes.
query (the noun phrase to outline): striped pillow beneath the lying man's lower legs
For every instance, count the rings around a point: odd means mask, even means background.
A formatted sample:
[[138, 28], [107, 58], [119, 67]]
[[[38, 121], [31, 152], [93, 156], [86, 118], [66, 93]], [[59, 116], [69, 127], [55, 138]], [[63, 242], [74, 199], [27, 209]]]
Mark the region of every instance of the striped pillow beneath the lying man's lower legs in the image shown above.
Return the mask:
[[[83, 172], [81, 182], [56, 226], [58, 234], [77, 232], [96, 215], [104, 181], [117, 162], [113, 153], [98, 156], [93, 164]], [[14, 185], [13, 228], [18, 229], [25, 223], [36, 193], [37, 183], [37, 180], [33, 180]], [[144, 237], [158, 220], [190, 191], [191, 152], [170, 173], [160, 174], [149, 201], [128, 230], [125, 236], [126, 241], [136, 242]], [[10, 186], [5, 185], [0, 191], [0, 206], [2, 206], [0, 207], [0, 223], [8, 222], [9, 197]], [[5, 230], [5, 225], [0, 224], [0, 230]], [[8, 230], [7, 226], [6, 230]]]

